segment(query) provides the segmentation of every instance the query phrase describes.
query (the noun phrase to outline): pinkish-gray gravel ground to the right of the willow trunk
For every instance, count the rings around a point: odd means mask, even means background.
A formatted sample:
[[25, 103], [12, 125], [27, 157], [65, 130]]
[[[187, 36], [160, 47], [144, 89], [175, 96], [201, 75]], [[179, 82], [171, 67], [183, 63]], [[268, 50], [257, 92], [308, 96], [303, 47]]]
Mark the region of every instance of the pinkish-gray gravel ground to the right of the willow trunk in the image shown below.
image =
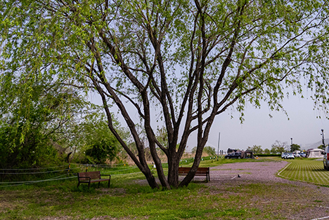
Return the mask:
[[[237, 208], [257, 208], [278, 219], [329, 219], [329, 188], [276, 177], [286, 165], [287, 161], [278, 161], [230, 163], [211, 167], [207, 186], [212, 188], [213, 193], [250, 196], [248, 204], [239, 204]], [[195, 181], [204, 179], [195, 177]], [[250, 184], [261, 184], [259, 191], [267, 191], [259, 196], [250, 195], [244, 190]], [[234, 188], [238, 190], [232, 191]]]

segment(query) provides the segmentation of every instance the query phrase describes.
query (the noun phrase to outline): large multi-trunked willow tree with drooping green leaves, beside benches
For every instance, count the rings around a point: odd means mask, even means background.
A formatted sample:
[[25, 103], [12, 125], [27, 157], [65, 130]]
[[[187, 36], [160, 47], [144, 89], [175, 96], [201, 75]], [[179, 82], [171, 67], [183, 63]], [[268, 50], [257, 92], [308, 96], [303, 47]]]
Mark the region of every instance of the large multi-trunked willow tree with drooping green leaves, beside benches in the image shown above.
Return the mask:
[[[319, 107], [327, 103], [324, 0], [3, 0], [0, 8], [3, 73], [24, 76], [27, 96], [26, 83], [44, 74], [96, 90], [108, 127], [153, 188], [146, 147], [162, 186], [179, 186], [179, 160], [195, 132], [195, 160], [180, 183], [187, 185], [215, 116], [237, 109], [243, 120], [246, 104], [262, 100], [282, 109], [284, 88], [300, 94], [303, 83]], [[115, 130], [111, 111], [124, 118], [137, 153]], [[158, 120], [166, 145], [157, 139]], [[167, 156], [167, 178], [158, 148]]]

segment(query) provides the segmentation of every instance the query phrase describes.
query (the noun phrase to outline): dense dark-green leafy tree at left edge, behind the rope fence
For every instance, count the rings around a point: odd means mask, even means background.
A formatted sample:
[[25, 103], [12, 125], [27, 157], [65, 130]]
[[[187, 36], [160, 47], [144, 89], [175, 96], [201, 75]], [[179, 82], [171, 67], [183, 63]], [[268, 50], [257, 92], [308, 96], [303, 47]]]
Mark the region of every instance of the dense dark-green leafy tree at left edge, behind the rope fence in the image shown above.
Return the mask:
[[31, 85], [29, 100], [15, 92], [20, 83], [5, 83], [1, 76], [0, 82], [2, 97], [8, 97], [0, 108], [0, 167], [58, 163], [72, 146], [72, 130], [81, 120], [86, 102], [77, 91], [59, 84]]

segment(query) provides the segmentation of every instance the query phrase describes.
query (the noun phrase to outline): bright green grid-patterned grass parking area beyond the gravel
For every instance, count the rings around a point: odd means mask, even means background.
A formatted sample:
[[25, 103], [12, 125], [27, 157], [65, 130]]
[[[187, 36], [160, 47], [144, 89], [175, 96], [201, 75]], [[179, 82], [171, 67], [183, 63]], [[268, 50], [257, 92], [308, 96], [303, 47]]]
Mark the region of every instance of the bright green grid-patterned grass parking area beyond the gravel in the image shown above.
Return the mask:
[[329, 172], [323, 169], [322, 160], [296, 158], [288, 162], [290, 164], [279, 173], [280, 177], [329, 186]]

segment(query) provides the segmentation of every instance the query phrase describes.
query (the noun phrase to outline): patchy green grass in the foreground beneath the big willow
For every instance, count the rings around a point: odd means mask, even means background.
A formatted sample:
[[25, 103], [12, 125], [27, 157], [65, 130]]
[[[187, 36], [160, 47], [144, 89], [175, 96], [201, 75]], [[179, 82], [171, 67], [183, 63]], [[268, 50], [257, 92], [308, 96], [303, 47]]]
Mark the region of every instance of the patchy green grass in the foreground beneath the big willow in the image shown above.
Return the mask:
[[[77, 188], [76, 181], [20, 190], [1, 191], [1, 219], [286, 219], [307, 205], [282, 205], [294, 186], [190, 184], [170, 191], [151, 189], [131, 181], [121, 187]], [[284, 198], [286, 199], [286, 198]], [[258, 202], [257, 202], [258, 201]], [[263, 202], [270, 201], [270, 202]], [[319, 205], [319, 200], [311, 204]], [[276, 213], [280, 208], [283, 214]]]

